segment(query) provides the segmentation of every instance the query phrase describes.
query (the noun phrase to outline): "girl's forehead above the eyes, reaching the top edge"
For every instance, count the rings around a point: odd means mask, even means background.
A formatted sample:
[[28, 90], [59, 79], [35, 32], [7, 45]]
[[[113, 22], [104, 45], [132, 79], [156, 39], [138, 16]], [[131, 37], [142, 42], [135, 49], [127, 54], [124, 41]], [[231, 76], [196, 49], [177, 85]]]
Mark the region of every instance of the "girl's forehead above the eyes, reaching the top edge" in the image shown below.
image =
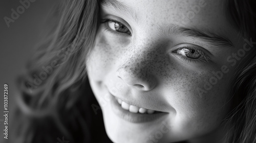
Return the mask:
[[134, 27], [143, 26], [148, 29], [174, 24], [210, 30], [230, 39], [237, 34], [237, 30], [227, 20], [223, 0], [105, 0], [105, 3], [114, 6], [103, 5], [106, 11], [123, 18]]

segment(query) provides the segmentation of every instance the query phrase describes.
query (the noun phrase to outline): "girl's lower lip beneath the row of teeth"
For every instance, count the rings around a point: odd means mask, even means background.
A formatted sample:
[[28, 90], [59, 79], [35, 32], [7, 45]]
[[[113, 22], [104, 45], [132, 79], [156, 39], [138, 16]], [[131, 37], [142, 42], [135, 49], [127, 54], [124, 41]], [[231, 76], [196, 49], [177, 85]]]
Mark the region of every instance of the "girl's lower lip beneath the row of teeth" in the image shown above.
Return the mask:
[[119, 117], [123, 118], [123, 120], [131, 122], [131, 123], [146, 123], [159, 120], [163, 116], [166, 116], [168, 113], [160, 112], [153, 114], [141, 114], [141, 113], [132, 113], [128, 110], [125, 110], [121, 107], [121, 105], [117, 102], [114, 96], [111, 95], [111, 105], [114, 113]]

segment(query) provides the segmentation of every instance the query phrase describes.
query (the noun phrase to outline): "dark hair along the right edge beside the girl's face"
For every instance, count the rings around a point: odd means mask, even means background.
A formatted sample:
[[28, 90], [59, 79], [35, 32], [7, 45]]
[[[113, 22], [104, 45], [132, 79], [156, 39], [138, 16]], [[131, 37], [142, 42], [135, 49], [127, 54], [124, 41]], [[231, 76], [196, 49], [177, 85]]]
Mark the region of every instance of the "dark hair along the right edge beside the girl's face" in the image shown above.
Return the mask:
[[[239, 30], [239, 36], [248, 41], [256, 41], [256, 2], [252, 0], [227, 1], [227, 17]], [[256, 45], [236, 69], [230, 94], [233, 110], [226, 118], [229, 131], [226, 142], [256, 142]]]

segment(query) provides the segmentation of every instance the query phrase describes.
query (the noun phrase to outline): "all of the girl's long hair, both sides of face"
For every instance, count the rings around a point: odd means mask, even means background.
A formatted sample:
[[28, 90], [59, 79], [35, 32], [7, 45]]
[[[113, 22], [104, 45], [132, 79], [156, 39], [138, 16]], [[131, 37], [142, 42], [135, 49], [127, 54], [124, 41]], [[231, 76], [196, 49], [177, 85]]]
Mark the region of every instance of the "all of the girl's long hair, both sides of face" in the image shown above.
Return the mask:
[[[92, 142], [95, 132], [98, 136], [104, 134], [93, 124], [101, 126], [102, 119], [95, 120], [92, 116], [91, 101], [96, 103], [96, 100], [86, 73], [86, 59], [99, 26], [99, 4], [99, 0], [63, 1], [56, 8], [56, 26], [38, 47], [27, 65], [27, 73], [18, 78], [20, 94], [16, 97], [15, 115], [18, 122], [13, 125], [15, 140], [11, 142], [58, 142], [58, 139]], [[231, 23], [252, 41], [256, 41], [255, 6], [250, 0], [227, 0]], [[253, 52], [233, 77], [230, 94], [234, 110], [226, 119], [229, 143], [256, 142], [256, 54]]]

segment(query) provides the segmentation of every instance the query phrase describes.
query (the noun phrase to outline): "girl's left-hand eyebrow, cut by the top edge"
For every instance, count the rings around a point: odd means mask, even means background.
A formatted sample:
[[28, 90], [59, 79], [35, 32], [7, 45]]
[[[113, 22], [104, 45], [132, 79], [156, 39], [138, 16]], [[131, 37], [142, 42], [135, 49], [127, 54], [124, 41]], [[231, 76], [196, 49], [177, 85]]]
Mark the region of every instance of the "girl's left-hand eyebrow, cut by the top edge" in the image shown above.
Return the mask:
[[136, 12], [129, 8], [127, 5], [118, 2], [117, 0], [102, 0], [101, 1], [102, 6], [110, 7], [116, 9], [118, 12], [121, 12], [125, 16], [131, 17], [136, 22], [138, 21], [138, 16]]

